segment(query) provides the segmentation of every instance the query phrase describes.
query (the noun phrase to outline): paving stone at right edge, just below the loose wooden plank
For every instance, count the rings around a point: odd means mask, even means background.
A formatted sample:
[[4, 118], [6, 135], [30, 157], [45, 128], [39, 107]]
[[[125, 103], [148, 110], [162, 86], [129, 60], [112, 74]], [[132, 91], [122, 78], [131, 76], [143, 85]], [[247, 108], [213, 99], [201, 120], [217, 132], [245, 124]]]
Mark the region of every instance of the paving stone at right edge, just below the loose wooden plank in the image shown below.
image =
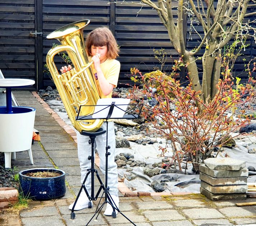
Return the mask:
[[224, 207], [219, 208], [219, 212], [223, 213], [228, 217], [245, 217], [256, 215], [256, 209], [253, 208], [253, 206]]

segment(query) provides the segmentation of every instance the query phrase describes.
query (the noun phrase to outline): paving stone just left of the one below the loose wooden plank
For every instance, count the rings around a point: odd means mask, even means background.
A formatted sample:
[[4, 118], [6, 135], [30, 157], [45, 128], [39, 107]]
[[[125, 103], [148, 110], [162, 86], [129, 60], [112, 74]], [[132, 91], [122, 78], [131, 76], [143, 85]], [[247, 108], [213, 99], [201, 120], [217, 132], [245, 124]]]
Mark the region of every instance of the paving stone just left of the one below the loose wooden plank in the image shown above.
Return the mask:
[[190, 208], [181, 210], [188, 218], [192, 219], [215, 219], [225, 218], [218, 210], [212, 208]]

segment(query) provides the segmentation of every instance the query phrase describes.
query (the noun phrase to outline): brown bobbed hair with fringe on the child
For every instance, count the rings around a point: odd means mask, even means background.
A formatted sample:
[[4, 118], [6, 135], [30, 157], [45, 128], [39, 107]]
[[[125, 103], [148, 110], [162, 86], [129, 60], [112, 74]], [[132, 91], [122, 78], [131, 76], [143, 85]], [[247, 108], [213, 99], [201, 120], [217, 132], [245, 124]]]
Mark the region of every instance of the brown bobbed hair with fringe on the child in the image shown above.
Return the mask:
[[119, 56], [116, 39], [110, 29], [106, 27], [96, 28], [87, 35], [85, 46], [90, 56], [92, 56], [92, 45], [96, 47], [106, 45], [108, 48], [107, 58], [109, 59], [116, 59]]

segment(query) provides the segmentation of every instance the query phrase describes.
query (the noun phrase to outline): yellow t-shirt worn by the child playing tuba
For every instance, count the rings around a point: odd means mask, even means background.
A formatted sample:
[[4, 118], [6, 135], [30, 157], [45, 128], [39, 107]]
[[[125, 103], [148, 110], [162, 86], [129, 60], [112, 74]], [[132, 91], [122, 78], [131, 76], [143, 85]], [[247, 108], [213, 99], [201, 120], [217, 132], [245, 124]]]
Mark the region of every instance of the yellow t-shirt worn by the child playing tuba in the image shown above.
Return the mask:
[[[100, 66], [101, 66], [101, 70], [102, 70], [106, 80], [110, 84], [112, 84], [116, 87], [117, 82], [118, 82], [119, 72], [120, 72], [120, 62], [117, 61], [116, 59], [107, 59], [106, 61], [101, 63]], [[97, 80], [97, 72], [94, 69], [93, 64], [92, 64], [92, 71], [93, 71], [94, 76], [96, 77], [96, 84], [99, 87], [99, 81]], [[104, 96], [100, 87], [99, 87], [99, 92], [100, 92], [99, 95], [101, 98], [111, 98], [112, 97], [112, 92], [109, 95]]]

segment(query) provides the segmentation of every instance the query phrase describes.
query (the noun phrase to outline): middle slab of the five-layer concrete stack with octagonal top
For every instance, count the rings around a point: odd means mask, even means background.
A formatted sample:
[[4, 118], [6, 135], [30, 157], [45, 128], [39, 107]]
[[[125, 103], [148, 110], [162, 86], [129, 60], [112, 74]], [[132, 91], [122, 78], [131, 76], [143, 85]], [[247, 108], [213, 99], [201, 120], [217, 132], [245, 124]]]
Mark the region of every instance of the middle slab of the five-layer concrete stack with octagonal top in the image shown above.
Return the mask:
[[214, 178], [200, 173], [199, 179], [212, 186], [247, 184], [247, 177]]

